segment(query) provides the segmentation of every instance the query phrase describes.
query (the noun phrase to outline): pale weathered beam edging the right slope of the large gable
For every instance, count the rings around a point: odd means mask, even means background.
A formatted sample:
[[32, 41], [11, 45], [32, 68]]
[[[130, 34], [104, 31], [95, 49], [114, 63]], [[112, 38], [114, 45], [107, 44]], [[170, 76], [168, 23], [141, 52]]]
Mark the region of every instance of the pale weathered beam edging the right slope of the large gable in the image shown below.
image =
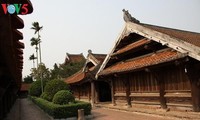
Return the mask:
[[161, 43], [162, 45], [166, 45], [170, 48], [173, 48], [181, 53], [187, 53], [190, 57], [194, 59], [200, 60], [200, 48], [193, 44], [190, 44], [178, 38], [171, 37], [164, 33], [143, 27], [140, 24], [128, 22], [126, 24], [126, 27], [127, 30], [130, 32], [137, 33], [141, 36]]

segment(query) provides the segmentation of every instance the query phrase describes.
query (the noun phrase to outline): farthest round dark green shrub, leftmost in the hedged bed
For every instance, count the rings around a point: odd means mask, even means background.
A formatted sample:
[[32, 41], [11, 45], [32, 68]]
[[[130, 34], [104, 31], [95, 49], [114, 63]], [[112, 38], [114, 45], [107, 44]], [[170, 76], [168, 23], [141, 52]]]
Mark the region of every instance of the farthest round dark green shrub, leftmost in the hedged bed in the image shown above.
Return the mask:
[[[46, 82], [45, 80], [42, 81], [43, 82], [43, 88], [44, 86], [46, 85]], [[39, 97], [42, 93], [42, 90], [41, 90], [41, 80], [37, 80], [35, 82], [33, 82], [29, 88], [29, 95], [31, 96], [36, 96], [36, 97]]]

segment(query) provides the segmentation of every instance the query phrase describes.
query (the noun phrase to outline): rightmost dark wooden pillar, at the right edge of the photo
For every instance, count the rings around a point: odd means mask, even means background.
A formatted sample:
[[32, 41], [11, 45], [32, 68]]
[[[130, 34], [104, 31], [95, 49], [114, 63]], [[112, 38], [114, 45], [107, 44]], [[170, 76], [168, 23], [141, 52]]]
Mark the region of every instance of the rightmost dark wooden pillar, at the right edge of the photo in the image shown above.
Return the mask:
[[185, 72], [191, 84], [193, 111], [200, 112], [200, 64], [187, 64]]

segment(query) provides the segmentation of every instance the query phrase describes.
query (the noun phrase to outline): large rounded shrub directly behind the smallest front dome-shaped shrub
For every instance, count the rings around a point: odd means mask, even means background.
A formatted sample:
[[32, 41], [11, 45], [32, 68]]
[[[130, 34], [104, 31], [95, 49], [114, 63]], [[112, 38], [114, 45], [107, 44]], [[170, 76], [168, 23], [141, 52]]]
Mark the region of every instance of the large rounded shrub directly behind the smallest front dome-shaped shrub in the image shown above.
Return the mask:
[[52, 101], [53, 96], [60, 90], [69, 90], [69, 87], [62, 80], [51, 80], [44, 88], [45, 95], [42, 95], [41, 97], [45, 100]]

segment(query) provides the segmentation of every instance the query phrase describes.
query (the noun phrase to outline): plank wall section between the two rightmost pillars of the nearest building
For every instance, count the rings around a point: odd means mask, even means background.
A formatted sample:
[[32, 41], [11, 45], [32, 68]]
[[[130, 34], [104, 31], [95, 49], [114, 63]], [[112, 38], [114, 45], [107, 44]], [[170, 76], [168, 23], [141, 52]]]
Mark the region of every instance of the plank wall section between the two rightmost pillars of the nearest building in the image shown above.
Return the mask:
[[191, 105], [191, 86], [185, 74], [184, 67], [166, 68], [162, 72], [165, 84], [166, 103], [168, 106], [192, 107]]

